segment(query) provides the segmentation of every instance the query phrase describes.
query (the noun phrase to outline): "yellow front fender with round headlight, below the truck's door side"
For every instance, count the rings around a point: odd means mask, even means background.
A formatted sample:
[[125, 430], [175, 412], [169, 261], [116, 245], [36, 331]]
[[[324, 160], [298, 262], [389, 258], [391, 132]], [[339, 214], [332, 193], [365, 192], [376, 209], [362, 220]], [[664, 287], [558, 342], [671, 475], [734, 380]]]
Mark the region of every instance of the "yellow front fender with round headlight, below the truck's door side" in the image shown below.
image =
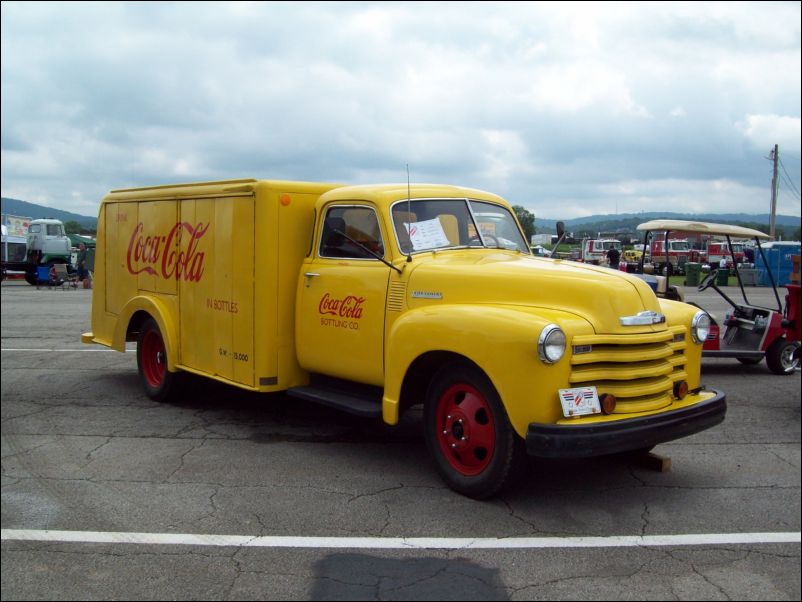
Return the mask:
[[[447, 352], [481, 368], [499, 393], [515, 431], [522, 437], [530, 422], [555, 419], [560, 412], [556, 390], [570, 373], [570, 353], [555, 364], [538, 357], [543, 328], [558, 324], [568, 337], [592, 334], [584, 319], [558, 310], [539, 308], [438, 305], [411, 310], [398, 318], [387, 338], [384, 421], [396, 424], [401, 389], [410, 366], [422, 355]], [[552, 391], [548, 397], [544, 391]], [[554, 407], [552, 407], [554, 406]]]

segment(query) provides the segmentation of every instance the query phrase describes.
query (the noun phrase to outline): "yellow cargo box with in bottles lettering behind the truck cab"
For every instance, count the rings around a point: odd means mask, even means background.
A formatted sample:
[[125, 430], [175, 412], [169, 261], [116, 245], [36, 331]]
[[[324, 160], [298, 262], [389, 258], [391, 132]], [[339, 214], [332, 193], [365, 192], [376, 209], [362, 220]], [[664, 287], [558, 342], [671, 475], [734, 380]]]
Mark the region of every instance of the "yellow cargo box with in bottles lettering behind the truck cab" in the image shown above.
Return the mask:
[[162, 369], [258, 391], [303, 382], [298, 269], [315, 202], [335, 186], [251, 179], [112, 191], [98, 216], [103, 252], [84, 340], [122, 351], [152, 319], [164, 346], [163, 364], [144, 367], [154, 382]]

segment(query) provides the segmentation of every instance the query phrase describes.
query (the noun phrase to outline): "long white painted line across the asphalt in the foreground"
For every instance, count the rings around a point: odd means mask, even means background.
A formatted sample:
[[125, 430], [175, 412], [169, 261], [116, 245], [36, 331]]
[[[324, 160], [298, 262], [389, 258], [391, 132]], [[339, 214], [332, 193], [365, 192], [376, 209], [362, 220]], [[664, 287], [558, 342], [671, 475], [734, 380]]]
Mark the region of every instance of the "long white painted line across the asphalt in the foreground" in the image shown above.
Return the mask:
[[243, 548], [351, 548], [361, 550], [487, 550], [537, 548], [628, 548], [800, 543], [799, 532], [695, 533], [609, 537], [292, 537], [197, 535], [190, 533], [124, 533], [2, 529], [2, 541], [125, 543], [140, 545], [231, 546]]

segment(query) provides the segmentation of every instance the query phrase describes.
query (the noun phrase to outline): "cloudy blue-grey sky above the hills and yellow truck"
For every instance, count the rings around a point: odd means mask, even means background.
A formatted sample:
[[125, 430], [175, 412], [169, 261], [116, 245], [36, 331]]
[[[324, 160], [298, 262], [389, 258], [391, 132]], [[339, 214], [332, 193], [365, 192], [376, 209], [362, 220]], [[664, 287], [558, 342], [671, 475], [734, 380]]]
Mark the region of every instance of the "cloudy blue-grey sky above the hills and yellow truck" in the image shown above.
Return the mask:
[[409, 164], [541, 218], [767, 213], [778, 144], [798, 216], [800, 50], [799, 2], [3, 2], [2, 196]]

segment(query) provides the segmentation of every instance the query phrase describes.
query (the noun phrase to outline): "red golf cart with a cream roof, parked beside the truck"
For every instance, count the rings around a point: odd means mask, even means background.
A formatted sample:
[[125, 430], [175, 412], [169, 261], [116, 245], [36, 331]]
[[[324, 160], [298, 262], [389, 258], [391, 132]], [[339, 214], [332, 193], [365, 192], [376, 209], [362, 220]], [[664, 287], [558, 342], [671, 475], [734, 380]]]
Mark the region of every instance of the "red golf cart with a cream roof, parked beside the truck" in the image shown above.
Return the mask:
[[[771, 237], [758, 230], [731, 226], [728, 224], [711, 224], [705, 222], [691, 222], [682, 220], [654, 220], [638, 226], [638, 230], [646, 233], [646, 238], [653, 231], [658, 232], [693, 232], [724, 236], [730, 253], [730, 260], [736, 263], [736, 250], [731, 237], [753, 238], [755, 249], [761, 256], [765, 256], [760, 245], [761, 240], [770, 240]], [[766, 358], [766, 364], [775, 374], [791, 374], [799, 365], [800, 346], [800, 289], [799, 285], [787, 284], [785, 288], [785, 303], [780, 300], [777, 283], [772, 273], [768, 272], [776, 307], [762, 307], [749, 302], [746, 289], [741, 280], [740, 270], [735, 270], [738, 285], [741, 290], [743, 302], [731, 299], [718, 284], [719, 270], [711, 264], [710, 273], [699, 284], [699, 290], [713, 288], [732, 307], [720, 322], [715, 316], [710, 336], [705, 341], [703, 355], [705, 357], [732, 357], [743, 364], [757, 364]]]

